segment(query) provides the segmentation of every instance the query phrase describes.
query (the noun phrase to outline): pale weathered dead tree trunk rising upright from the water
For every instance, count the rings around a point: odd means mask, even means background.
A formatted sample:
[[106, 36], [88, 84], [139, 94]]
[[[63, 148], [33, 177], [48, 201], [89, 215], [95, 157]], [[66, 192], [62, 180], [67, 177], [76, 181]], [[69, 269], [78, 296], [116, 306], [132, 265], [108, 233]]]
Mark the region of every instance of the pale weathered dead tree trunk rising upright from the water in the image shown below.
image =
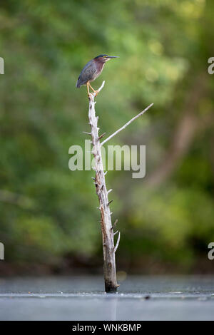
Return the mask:
[[95, 112], [94, 96], [91, 94], [89, 99], [88, 118], [91, 125], [91, 141], [93, 145], [92, 153], [95, 159], [96, 194], [100, 203], [101, 229], [103, 235], [103, 262], [104, 280], [106, 292], [116, 292], [118, 284], [116, 279], [116, 259], [113, 242], [113, 227], [111, 224], [111, 211], [109, 208], [108, 191], [106, 189], [105, 173], [103, 171], [103, 161], [101, 157], [101, 143], [98, 135], [98, 116]]

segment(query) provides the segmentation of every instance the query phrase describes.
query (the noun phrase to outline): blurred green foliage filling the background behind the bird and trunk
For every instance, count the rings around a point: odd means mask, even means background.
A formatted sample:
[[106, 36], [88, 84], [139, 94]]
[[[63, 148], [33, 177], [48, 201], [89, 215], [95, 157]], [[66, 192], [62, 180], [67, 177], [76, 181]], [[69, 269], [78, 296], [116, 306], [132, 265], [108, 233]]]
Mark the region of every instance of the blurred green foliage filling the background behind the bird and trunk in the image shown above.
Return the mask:
[[[108, 172], [119, 267], [141, 272], [149, 258], [190, 270], [207, 252], [214, 240], [213, 13], [211, 0], [1, 0], [0, 239], [8, 262], [101, 259], [93, 172], [68, 170], [68, 148], [83, 145], [89, 130], [86, 88], [76, 90], [76, 79], [100, 53], [120, 56], [93, 85], [106, 80], [96, 104], [102, 133], [154, 103], [111, 140], [147, 150], [143, 180]], [[184, 138], [189, 113], [192, 135], [180, 150], [176, 136]], [[165, 157], [173, 168], [164, 168]], [[151, 187], [160, 165], [168, 172]]]

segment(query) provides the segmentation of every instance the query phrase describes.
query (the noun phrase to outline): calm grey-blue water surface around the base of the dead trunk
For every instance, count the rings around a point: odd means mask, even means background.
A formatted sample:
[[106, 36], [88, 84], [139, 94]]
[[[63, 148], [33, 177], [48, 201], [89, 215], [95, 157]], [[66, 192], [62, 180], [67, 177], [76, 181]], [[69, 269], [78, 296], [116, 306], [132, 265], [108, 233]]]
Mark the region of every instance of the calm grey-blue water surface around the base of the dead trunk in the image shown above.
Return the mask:
[[118, 294], [102, 277], [0, 279], [1, 320], [214, 320], [214, 277], [128, 276]]

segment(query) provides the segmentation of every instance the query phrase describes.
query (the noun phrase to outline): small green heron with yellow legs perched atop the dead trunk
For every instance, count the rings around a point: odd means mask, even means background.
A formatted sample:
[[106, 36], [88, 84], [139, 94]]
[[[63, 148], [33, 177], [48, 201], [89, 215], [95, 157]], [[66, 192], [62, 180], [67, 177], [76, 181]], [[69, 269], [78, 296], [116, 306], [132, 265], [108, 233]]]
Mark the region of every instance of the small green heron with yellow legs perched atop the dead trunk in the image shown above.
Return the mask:
[[106, 61], [110, 61], [112, 58], [118, 58], [118, 56], [108, 56], [108, 55], [99, 55], [95, 58], [88, 61], [86, 66], [81, 71], [81, 74], [78, 77], [78, 81], [76, 82], [76, 87], [80, 88], [82, 85], [87, 85], [88, 96], [90, 96], [89, 86], [93, 90], [93, 92], [98, 94], [98, 91], [94, 90], [91, 86], [91, 81], [94, 81], [103, 71], [103, 67]]

